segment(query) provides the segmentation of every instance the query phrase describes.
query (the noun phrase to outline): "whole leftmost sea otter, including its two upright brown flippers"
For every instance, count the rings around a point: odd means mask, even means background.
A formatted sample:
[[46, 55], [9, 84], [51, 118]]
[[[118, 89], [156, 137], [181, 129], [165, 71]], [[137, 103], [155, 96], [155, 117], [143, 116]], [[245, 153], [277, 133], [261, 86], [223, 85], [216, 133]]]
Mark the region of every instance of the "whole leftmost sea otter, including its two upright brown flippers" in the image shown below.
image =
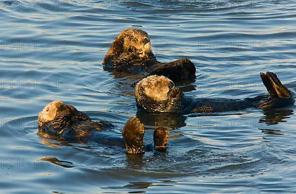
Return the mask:
[[[39, 113], [38, 116], [39, 134], [42, 137], [54, 138], [59, 141], [68, 142], [106, 142], [102, 132], [106, 128], [115, 128], [108, 121], [92, 121], [85, 113], [78, 111], [72, 105], [67, 105], [62, 101], [52, 101]], [[49, 135], [49, 136], [48, 136]], [[126, 148], [127, 154], [141, 154], [144, 150], [143, 142], [144, 125], [137, 117], [130, 118], [122, 130], [122, 138], [109, 139], [112, 143], [108, 145], [117, 145]], [[166, 149], [168, 140], [168, 131], [166, 128], [157, 127], [153, 134], [154, 149], [162, 151]], [[122, 145], [123, 144], [123, 145]], [[150, 148], [151, 145], [147, 146]]]

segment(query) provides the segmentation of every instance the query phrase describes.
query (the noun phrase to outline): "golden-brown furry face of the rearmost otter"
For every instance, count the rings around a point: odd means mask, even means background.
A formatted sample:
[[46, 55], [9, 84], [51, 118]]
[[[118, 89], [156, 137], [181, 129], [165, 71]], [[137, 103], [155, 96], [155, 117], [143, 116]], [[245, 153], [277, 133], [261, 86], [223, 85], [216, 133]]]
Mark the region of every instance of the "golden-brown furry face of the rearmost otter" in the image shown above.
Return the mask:
[[143, 30], [126, 29], [116, 39], [122, 43], [123, 53], [132, 53], [137, 58], [147, 58], [151, 52], [150, 39]]

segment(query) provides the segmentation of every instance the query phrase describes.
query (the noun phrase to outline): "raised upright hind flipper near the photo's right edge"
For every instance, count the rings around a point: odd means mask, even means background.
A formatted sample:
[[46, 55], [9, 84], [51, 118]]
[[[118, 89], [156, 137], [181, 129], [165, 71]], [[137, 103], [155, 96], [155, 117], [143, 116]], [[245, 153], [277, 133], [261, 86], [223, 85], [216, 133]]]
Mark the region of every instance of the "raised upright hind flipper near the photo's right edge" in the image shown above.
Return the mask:
[[263, 84], [272, 97], [291, 98], [292, 94], [272, 72], [260, 73]]

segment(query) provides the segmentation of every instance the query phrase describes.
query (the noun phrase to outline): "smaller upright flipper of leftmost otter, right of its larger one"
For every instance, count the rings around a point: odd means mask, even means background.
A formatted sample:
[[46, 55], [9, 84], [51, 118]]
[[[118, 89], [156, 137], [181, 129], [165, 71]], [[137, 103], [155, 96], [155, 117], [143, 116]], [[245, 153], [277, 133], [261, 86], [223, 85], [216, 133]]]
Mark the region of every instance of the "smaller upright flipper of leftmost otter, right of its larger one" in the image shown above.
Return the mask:
[[165, 151], [168, 141], [169, 131], [164, 127], [157, 127], [153, 133], [154, 149], [157, 151]]

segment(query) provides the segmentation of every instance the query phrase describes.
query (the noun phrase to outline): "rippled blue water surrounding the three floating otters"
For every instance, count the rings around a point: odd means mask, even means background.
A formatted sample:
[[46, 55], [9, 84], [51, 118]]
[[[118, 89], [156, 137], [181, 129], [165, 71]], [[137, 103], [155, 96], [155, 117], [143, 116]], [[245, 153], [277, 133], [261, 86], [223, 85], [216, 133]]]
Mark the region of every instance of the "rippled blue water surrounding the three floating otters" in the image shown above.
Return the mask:
[[[265, 94], [259, 72], [296, 91], [293, 0], [0, 0], [1, 193], [296, 192], [295, 106], [212, 115], [137, 112], [130, 83], [102, 59], [125, 28], [148, 32], [159, 61], [189, 58], [186, 95]], [[126, 155], [37, 135], [37, 115], [59, 99], [122, 129], [131, 116], [167, 126], [166, 153]], [[56, 160], [57, 158], [58, 160]]]

